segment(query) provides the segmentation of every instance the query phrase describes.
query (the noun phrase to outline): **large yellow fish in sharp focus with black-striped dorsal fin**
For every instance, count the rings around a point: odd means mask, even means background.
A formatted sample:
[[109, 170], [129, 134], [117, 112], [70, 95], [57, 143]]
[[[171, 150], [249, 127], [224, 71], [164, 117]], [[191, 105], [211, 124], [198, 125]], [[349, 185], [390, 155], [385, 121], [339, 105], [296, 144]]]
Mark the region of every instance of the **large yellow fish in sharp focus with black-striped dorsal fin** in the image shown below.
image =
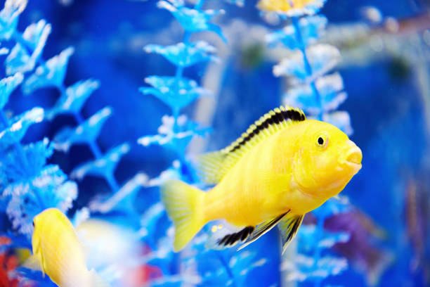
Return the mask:
[[227, 148], [197, 158], [198, 174], [216, 184], [213, 189], [203, 192], [178, 180], [162, 186], [175, 226], [174, 250], [216, 219], [237, 232], [211, 247], [243, 248], [278, 224], [285, 250], [306, 212], [342, 191], [361, 159], [360, 148], [334, 125], [306, 120], [297, 108], [276, 108]]

